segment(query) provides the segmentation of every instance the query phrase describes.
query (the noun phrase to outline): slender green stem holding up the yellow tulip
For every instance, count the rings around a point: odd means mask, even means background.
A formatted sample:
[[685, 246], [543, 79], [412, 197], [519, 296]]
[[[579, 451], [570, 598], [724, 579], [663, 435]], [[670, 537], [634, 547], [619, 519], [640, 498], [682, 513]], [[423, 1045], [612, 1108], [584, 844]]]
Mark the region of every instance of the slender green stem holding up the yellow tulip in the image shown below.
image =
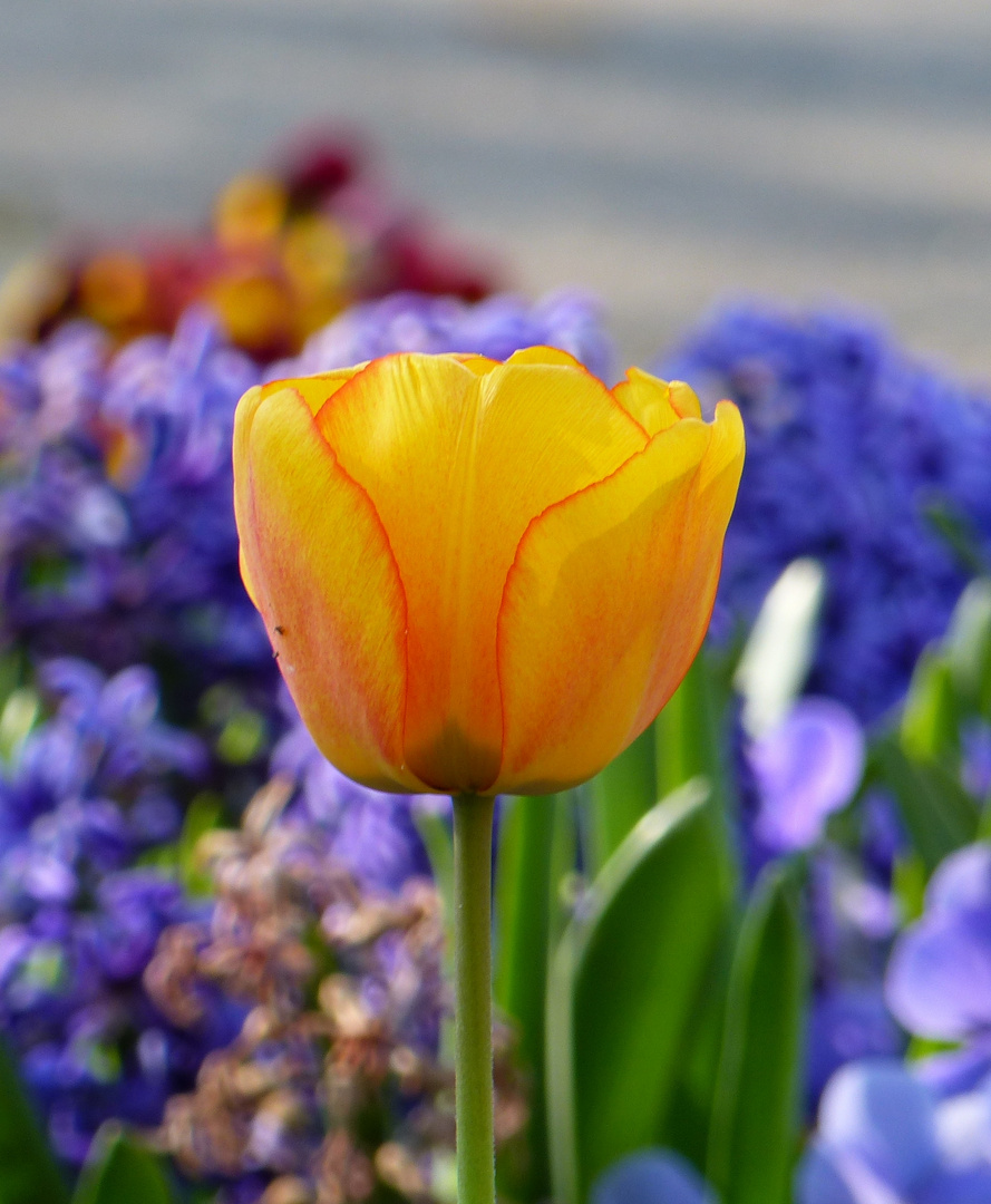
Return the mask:
[[454, 1074], [458, 1204], [495, 1204], [491, 798], [454, 798]]

